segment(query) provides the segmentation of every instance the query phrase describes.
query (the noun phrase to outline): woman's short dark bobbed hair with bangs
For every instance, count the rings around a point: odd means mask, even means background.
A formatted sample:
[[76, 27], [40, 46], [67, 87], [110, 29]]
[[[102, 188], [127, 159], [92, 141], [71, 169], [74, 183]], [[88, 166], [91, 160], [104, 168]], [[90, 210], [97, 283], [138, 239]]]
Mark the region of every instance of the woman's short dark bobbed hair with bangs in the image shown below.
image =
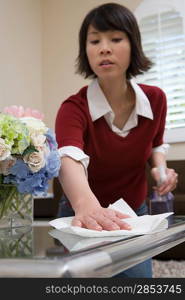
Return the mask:
[[86, 54], [86, 40], [89, 25], [98, 31], [119, 30], [127, 34], [131, 44], [130, 65], [126, 72], [127, 79], [144, 73], [152, 66], [145, 56], [139, 27], [133, 13], [117, 3], [106, 3], [92, 9], [84, 18], [79, 31], [79, 53], [76, 63], [77, 73], [85, 78], [97, 77], [89, 65]]

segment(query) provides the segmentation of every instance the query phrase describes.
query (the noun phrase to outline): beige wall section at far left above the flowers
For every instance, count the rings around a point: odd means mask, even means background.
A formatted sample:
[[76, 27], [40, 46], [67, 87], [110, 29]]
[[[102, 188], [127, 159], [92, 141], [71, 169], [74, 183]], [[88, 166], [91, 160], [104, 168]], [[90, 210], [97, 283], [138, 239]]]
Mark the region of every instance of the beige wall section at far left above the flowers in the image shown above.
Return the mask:
[[40, 0], [0, 0], [0, 110], [43, 111], [41, 24]]

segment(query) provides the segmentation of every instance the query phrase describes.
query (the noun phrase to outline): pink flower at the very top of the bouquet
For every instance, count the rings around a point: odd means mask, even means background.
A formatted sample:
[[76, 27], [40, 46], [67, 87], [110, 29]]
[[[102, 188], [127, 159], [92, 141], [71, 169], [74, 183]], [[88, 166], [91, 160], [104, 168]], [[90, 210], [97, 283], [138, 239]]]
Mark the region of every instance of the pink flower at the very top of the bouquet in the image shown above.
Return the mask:
[[44, 115], [40, 113], [36, 109], [31, 109], [29, 107], [25, 108], [23, 106], [17, 106], [17, 105], [12, 105], [12, 106], [6, 106], [3, 109], [3, 112], [9, 115], [13, 115], [14, 117], [17, 118], [22, 118], [22, 117], [33, 117], [39, 120], [42, 120], [44, 118]]

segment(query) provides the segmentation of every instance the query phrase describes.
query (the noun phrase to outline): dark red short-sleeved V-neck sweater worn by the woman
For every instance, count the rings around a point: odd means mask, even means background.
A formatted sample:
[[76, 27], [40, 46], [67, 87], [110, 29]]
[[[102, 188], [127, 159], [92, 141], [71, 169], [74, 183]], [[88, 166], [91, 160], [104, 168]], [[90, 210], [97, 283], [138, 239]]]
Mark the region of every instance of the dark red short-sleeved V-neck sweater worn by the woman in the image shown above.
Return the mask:
[[138, 126], [126, 137], [109, 128], [104, 117], [92, 122], [87, 87], [61, 105], [56, 118], [58, 146], [76, 146], [90, 157], [89, 185], [102, 206], [123, 198], [133, 209], [146, 199], [145, 168], [152, 148], [163, 143], [166, 97], [154, 86], [140, 85], [154, 119], [138, 116]]

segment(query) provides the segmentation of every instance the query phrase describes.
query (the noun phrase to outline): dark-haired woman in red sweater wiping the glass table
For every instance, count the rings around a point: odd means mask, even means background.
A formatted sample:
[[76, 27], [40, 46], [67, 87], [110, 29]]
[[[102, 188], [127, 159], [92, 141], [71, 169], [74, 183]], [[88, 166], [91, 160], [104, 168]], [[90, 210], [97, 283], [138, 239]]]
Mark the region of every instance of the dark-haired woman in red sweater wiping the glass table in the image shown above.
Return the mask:
[[[64, 101], [56, 118], [65, 194], [59, 216], [74, 215], [74, 226], [129, 229], [121, 221], [126, 216], [107, 207], [123, 198], [138, 215], [147, 213], [147, 162], [156, 180], [157, 167], [166, 167], [167, 179], [155, 187], [161, 195], [176, 187], [177, 174], [166, 166], [163, 144], [165, 94], [133, 80], [150, 66], [136, 19], [126, 7], [108, 3], [87, 14], [77, 71], [93, 81]], [[151, 277], [151, 261], [118, 276]]]

